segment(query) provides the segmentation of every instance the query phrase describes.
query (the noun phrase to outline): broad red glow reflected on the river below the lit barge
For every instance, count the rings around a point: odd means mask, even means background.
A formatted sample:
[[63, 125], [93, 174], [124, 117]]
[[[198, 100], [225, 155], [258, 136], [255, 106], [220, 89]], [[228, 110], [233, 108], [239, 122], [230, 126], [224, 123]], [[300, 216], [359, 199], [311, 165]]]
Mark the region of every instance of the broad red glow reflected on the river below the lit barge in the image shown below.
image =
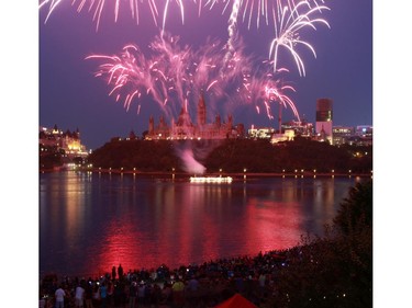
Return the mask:
[[155, 226], [156, 233], [129, 210], [108, 220], [91, 262], [100, 274], [119, 264], [125, 272], [162, 264], [175, 269], [255, 254], [294, 246], [300, 237], [302, 213], [296, 202], [248, 197], [234, 208], [227, 205], [232, 191], [226, 186], [168, 185], [158, 190], [156, 195], [162, 197], [147, 207], [151, 220], [145, 221]]

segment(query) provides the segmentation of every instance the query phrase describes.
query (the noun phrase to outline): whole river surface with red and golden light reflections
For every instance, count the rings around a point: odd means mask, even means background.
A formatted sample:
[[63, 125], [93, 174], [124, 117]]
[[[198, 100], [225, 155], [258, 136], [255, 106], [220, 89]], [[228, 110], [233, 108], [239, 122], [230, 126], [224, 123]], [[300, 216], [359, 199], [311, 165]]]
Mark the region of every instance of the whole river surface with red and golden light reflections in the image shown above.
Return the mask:
[[40, 175], [40, 274], [98, 275], [256, 254], [323, 233], [354, 178], [193, 184], [132, 174]]

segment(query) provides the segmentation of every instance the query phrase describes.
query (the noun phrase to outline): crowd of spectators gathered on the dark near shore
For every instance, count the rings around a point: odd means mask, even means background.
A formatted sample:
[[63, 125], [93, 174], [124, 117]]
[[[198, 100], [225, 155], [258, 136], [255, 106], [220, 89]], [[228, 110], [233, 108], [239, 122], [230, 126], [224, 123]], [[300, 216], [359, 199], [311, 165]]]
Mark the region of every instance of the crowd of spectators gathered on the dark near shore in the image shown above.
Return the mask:
[[285, 252], [266, 252], [170, 270], [123, 271], [121, 264], [100, 277], [45, 275], [40, 282], [41, 308], [214, 307], [235, 293], [259, 307], [276, 293]]

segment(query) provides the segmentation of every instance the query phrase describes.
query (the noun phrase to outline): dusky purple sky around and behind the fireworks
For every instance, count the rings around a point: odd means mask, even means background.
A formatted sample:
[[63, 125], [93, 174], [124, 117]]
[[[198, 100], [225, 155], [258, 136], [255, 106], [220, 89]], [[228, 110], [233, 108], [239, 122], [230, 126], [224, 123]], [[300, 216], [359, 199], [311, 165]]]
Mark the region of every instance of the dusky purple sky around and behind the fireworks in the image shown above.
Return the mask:
[[[47, 9], [38, 16], [38, 115], [40, 125], [63, 130], [79, 128], [82, 144], [96, 149], [111, 137], [124, 137], [133, 129], [141, 135], [148, 126], [148, 117], [157, 119], [160, 111], [153, 102], [143, 102], [140, 114], [137, 104], [129, 112], [122, 102], [109, 96], [109, 87], [93, 72], [98, 62], [85, 60], [91, 54], [119, 54], [129, 43], [146, 48], [159, 33], [149, 11], [142, 7], [137, 25], [130, 12], [121, 11], [118, 23], [113, 22], [113, 10], [108, 8], [102, 16], [99, 31], [92, 14], [87, 10], [80, 13], [63, 1], [44, 23]], [[222, 15], [220, 9], [203, 10], [198, 16], [192, 4], [187, 4], [186, 21], [174, 4], [169, 11], [166, 30], [180, 36], [185, 44], [202, 46], [207, 38], [227, 39], [229, 12]], [[319, 25], [316, 31], [303, 31], [301, 37], [313, 45], [318, 57], [308, 49], [299, 49], [305, 64], [307, 76], [300, 77], [296, 66], [282, 54], [283, 66], [290, 69], [288, 81], [296, 93], [291, 94], [301, 117], [309, 122], [315, 119], [315, 102], [320, 98], [331, 98], [334, 102], [334, 125], [372, 124], [372, 4], [371, 0], [326, 1], [331, 11], [322, 14], [331, 28]], [[272, 26], [247, 30], [238, 26], [246, 50], [259, 58], [268, 57], [269, 45], [274, 38]], [[289, 61], [289, 62], [288, 62]], [[289, 110], [283, 112], [283, 121], [292, 119]], [[193, 118], [194, 119], [194, 118]], [[194, 119], [196, 121], [196, 119]], [[257, 126], [277, 127], [266, 114], [238, 109], [234, 122], [244, 123], [248, 128]]]

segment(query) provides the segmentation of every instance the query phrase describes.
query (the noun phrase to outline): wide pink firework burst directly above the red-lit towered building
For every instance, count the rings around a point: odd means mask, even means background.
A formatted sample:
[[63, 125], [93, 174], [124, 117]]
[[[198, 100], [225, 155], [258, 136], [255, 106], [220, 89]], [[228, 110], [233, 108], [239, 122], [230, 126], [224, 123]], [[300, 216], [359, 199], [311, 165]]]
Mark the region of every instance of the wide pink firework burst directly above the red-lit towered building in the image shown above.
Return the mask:
[[[123, 100], [126, 110], [132, 102], [137, 103], [137, 111], [143, 102], [155, 102], [172, 118], [182, 107], [187, 111], [196, 107], [190, 103], [203, 93], [212, 105], [222, 100], [236, 106], [255, 104], [259, 112], [259, 104], [264, 104], [270, 118], [270, 103], [276, 102], [290, 106], [299, 119], [292, 100], [286, 94], [294, 89], [281, 84], [268, 72], [267, 61], [254, 72], [254, 60], [244, 55], [240, 42], [235, 47], [234, 56], [226, 62], [222, 57], [225, 49], [219, 42], [208, 42], [193, 50], [181, 47], [177, 36], [162, 35], [151, 44], [149, 57], [138, 46], [126, 45], [120, 55], [91, 55], [87, 59], [102, 61], [94, 76], [107, 80], [109, 95]], [[222, 75], [223, 62], [226, 71]]]

